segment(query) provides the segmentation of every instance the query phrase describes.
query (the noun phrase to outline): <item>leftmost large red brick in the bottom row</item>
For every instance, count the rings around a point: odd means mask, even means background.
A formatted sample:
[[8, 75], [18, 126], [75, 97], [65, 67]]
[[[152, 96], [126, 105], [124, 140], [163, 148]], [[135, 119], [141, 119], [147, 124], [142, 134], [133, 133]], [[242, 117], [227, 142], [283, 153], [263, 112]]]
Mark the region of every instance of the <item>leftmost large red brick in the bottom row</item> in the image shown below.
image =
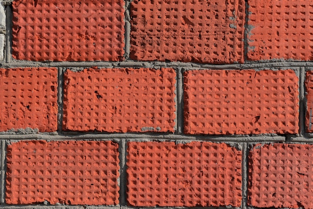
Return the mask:
[[30, 140], [7, 146], [7, 204], [118, 204], [118, 145]]

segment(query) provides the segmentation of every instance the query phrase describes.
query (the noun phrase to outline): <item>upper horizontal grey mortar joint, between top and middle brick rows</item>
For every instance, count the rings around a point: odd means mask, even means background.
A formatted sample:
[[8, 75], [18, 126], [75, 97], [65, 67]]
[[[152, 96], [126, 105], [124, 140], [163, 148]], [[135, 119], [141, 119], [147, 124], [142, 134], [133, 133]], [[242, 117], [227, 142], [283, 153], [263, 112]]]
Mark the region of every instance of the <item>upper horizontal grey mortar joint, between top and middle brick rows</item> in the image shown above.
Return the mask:
[[250, 69], [266, 67], [303, 67], [313, 66], [313, 62], [305, 61], [280, 61], [280, 62], [251, 62], [251, 63], [234, 63], [234, 64], [207, 64], [193, 62], [161, 62], [161, 61], [17, 61], [10, 63], [0, 62], [0, 67], [188, 67], [190, 69]]

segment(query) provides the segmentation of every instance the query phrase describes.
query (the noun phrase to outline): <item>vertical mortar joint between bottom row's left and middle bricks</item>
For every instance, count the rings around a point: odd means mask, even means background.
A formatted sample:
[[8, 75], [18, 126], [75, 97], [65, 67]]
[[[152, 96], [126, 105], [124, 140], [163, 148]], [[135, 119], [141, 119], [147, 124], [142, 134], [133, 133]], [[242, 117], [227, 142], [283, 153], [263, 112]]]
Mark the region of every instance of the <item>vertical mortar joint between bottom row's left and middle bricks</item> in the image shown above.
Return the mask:
[[126, 139], [120, 139], [118, 142], [118, 151], [119, 151], [119, 205], [126, 206]]

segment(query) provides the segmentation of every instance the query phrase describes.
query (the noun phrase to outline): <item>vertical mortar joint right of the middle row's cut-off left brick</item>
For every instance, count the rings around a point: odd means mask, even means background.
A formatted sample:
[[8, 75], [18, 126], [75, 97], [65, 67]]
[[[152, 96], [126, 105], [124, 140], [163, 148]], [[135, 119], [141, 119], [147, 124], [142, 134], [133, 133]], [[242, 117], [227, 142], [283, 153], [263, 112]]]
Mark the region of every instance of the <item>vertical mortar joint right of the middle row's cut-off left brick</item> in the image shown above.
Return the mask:
[[57, 68], [57, 131], [62, 131], [62, 121], [63, 121], [63, 83], [64, 75], [63, 68]]

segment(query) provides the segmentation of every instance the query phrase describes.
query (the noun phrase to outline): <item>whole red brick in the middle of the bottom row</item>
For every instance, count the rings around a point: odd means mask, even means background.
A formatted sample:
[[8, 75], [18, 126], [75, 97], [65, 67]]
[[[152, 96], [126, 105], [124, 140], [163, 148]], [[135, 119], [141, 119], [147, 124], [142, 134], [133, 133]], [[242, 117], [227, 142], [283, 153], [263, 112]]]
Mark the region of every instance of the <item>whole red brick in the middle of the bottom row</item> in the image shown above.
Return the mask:
[[241, 151], [224, 143], [129, 142], [132, 206], [241, 204]]

